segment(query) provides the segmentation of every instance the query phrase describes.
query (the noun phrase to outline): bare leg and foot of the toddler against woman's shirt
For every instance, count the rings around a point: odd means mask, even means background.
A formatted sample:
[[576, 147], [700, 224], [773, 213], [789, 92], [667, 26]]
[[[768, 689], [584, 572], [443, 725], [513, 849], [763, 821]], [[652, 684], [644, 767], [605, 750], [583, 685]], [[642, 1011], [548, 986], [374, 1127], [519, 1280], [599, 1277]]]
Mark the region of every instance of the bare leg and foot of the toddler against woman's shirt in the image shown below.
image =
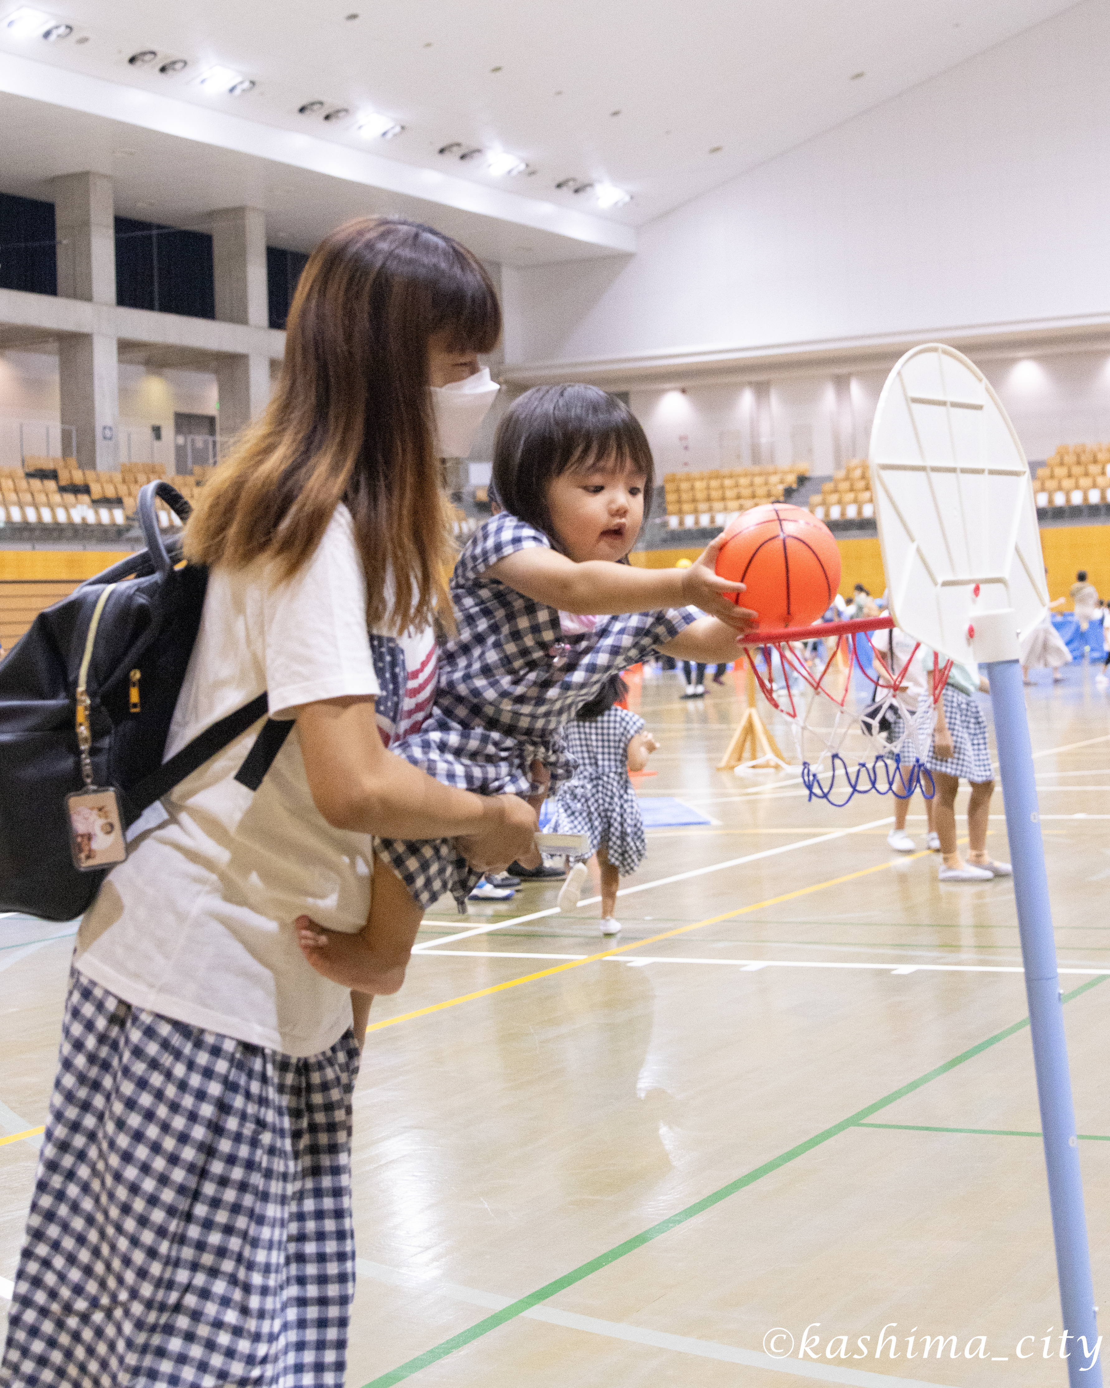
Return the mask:
[[305, 959], [325, 979], [352, 992], [397, 992], [405, 981], [422, 916], [423, 909], [409, 897], [393, 867], [377, 858], [370, 915], [362, 930], [357, 934], [323, 930], [308, 916], [300, 916], [297, 940]]

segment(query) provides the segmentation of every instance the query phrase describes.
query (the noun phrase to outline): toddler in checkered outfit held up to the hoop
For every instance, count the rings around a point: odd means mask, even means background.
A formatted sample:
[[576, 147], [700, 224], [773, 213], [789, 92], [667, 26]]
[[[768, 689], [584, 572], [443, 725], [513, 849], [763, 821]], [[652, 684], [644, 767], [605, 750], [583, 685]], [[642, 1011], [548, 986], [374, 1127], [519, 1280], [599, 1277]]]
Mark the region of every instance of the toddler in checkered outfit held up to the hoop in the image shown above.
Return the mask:
[[[755, 613], [737, 607], [742, 584], [715, 573], [720, 539], [688, 569], [624, 562], [652, 477], [644, 430], [604, 390], [538, 386], [509, 407], [494, 444], [504, 509], [459, 555], [436, 706], [393, 751], [480, 794], [554, 793], [574, 770], [565, 726], [613, 675], [652, 651], [709, 663], [735, 655]], [[376, 851], [375, 870], [400, 879], [413, 915], [445, 891], [465, 911], [477, 874], [451, 841], [380, 840]], [[372, 906], [370, 933], [373, 922]], [[309, 963], [352, 988], [358, 944], [314, 923], [301, 931]]]

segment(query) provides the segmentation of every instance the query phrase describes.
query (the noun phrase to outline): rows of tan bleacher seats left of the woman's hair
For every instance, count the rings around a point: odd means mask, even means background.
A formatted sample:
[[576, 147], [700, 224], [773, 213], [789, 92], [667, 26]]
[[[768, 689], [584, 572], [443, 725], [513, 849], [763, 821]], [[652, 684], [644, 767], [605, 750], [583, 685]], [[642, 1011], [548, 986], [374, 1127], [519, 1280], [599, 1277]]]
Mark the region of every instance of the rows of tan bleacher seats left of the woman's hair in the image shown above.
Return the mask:
[[[26, 457], [22, 468], [0, 468], [0, 525], [130, 525], [147, 482], [165, 479], [191, 501], [212, 471], [179, 477], [166, 476], [161, 464], [125, 462], [118, 472], [97, 472], [78, 468], [75, 458]], [[180, 525], [165, 502], [157, 512], [164, 529]]]

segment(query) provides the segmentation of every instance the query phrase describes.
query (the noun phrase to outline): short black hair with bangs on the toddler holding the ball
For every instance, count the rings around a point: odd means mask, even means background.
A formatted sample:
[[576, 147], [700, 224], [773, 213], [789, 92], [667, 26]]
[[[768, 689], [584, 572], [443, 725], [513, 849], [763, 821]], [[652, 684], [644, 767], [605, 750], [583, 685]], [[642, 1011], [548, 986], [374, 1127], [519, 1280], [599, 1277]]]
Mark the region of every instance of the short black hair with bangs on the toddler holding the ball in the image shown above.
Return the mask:
[[543, 530], [556, 548], [547, 489], [565, 472], [584, 472], [597, 464], [642, 473], [647, 519], [655, 462], [640, 421], [615, 396], [597, 386], [533, 386], [497, 426], [497, 498], [512, 515]]

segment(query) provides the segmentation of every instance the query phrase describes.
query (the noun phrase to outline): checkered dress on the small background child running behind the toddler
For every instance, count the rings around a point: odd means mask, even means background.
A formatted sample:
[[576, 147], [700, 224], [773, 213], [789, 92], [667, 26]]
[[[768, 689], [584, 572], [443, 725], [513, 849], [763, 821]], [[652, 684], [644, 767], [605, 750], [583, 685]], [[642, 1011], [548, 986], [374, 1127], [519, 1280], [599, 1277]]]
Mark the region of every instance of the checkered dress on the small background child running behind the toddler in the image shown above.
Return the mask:
[[635, 872], [648, 851], [629, 780], [629, 743], [644, 726], [644, 719], [627, 708], [610, 708], [590, 723], [570, 723], [566, 750], [579, 766], [552, 805], [552, 833], [586, 834], [590, 848], [581, 858], [590, 858], [604, 844], [622, 877]]

